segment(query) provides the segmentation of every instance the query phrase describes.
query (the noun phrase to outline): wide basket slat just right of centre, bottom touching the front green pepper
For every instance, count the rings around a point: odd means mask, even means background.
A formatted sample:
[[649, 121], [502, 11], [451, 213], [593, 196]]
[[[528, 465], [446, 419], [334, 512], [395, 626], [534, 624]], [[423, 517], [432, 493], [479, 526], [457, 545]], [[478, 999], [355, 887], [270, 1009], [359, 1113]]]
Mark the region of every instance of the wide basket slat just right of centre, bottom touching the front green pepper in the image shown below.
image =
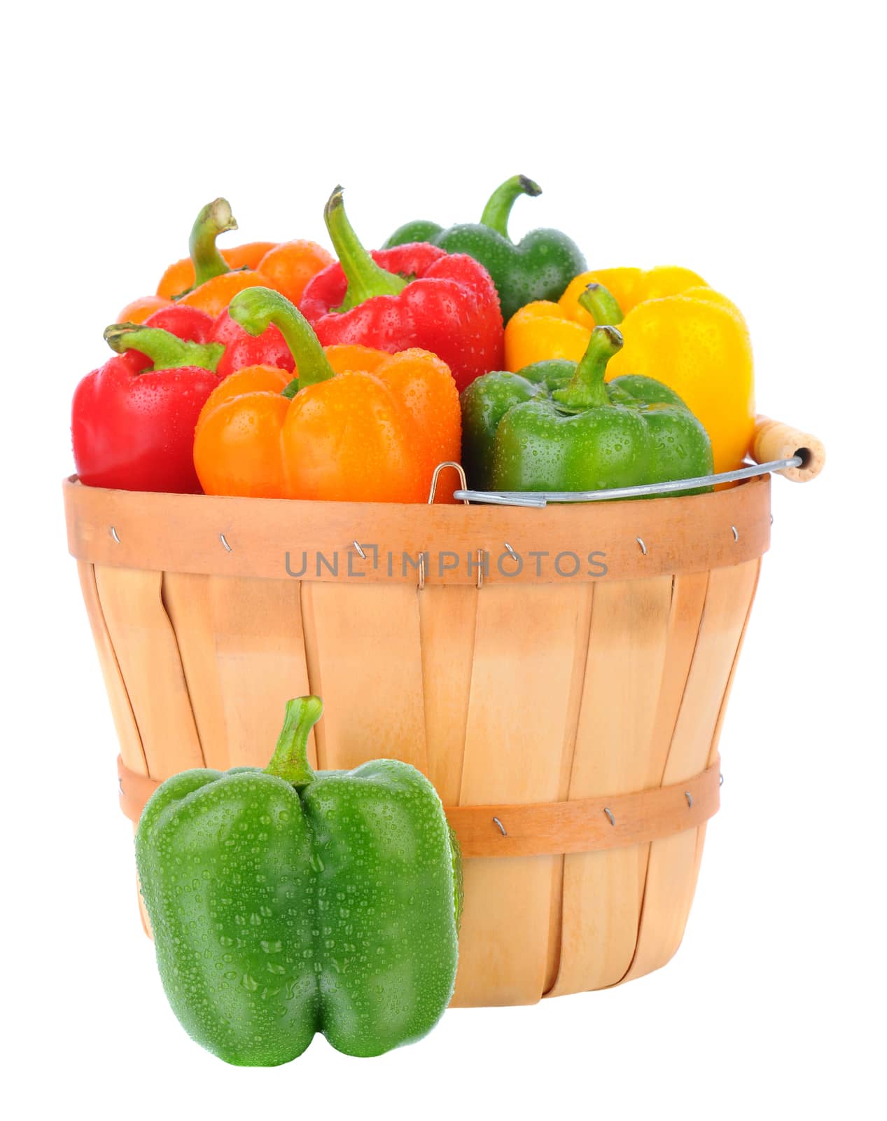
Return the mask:
[[[585, 673], [586, 589], [484, 587], [461, 805], [559, 797], [572, 750], [570, 698]], [[580, 677], [581, 679], [581, 677]], [[553, 897], [562, 858], [466, 862], [465, 914], [452, 1003], [529, 1004], [549, 972]]]

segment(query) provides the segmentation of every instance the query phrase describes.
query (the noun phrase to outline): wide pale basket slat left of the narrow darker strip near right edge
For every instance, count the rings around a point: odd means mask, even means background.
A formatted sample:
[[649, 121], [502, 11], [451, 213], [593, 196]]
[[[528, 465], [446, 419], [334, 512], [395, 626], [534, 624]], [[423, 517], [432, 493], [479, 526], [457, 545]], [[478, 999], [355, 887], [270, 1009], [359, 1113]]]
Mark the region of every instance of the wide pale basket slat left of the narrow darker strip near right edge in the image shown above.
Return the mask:
[[[651, 751], [671, 605], [667, 576], [595, 590], [570, 798], [659, 785], [661, 763]], [[566, 858], [560, 967], [551, 995], [600, 989], [625, 973], [645, 870], [641, 845]]]

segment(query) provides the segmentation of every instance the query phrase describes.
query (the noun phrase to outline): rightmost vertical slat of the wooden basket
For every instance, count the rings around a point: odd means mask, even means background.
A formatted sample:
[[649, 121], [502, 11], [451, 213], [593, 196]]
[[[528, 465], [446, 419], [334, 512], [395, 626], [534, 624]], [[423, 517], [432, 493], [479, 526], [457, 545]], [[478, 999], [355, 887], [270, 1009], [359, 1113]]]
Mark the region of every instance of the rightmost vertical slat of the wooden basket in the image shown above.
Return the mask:
[[[666, 784], [708, 765], [739, 642], [751, 609], [760, 560], [718, 568], [708, 594], [695, 651], [663, 775]], [[637, 949], [624, 980], [660, 969], [676, 952], [695, 891], [704, 826], [650, 846]]]

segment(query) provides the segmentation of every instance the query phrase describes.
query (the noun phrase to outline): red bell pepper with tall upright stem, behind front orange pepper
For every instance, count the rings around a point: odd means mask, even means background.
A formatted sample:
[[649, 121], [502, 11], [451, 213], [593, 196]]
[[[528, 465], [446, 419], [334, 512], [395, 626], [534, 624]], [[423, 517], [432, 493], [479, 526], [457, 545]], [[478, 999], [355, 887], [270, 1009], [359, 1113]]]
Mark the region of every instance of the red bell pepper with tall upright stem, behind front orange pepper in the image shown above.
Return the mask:
[[339, 263], [309, 280], [299, 309], [325, 346], [358, 344], [391, 354], [419, 346], [447, 363], [460, 390], [502, 368], [502, 312], [483, 265], [428, 243], [367, 252], [345, 214], [340, 187], [324, 217]]

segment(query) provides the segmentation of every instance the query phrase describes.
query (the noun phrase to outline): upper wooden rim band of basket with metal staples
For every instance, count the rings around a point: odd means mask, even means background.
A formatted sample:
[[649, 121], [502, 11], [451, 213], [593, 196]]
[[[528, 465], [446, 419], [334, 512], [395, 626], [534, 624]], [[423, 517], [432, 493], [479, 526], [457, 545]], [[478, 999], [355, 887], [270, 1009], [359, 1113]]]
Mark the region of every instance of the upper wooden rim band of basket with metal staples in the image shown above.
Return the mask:
[[[63, 490], [68, 548], [80, 560], [355, 587], [416, 587], [422, 552], [428, 585], [476, 584], [468, 557], [474, 563], [478, 549], [489, 554], [487, 586], [572, 585], [589, 578], [592, 552], [607, 566], [599, 578], [646, 580], [739, 564], [769, 544], [769, 476], [711, 494], [544, 509], [151, 494], [71, 480]], [[520, 572], [505, 541], [523, 562]]]

